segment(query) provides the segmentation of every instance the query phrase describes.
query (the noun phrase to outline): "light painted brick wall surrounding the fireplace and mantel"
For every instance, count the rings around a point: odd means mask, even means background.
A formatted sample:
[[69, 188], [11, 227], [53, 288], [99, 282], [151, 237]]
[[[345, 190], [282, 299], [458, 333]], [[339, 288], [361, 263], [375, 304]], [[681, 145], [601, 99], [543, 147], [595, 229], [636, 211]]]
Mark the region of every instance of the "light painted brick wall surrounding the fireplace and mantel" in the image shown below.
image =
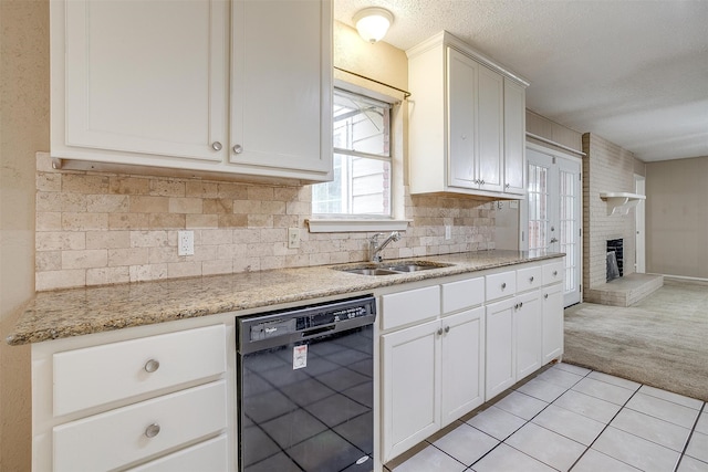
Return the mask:
[[583, 297], [593, 302], [593, 289], [605, 283], [607, 240], [624, 240], [624, 274], [635, 272], [635, 211], [607, 214], [601, 192], [635, 191], [632, 153], [594, 134], [583, 135]]

